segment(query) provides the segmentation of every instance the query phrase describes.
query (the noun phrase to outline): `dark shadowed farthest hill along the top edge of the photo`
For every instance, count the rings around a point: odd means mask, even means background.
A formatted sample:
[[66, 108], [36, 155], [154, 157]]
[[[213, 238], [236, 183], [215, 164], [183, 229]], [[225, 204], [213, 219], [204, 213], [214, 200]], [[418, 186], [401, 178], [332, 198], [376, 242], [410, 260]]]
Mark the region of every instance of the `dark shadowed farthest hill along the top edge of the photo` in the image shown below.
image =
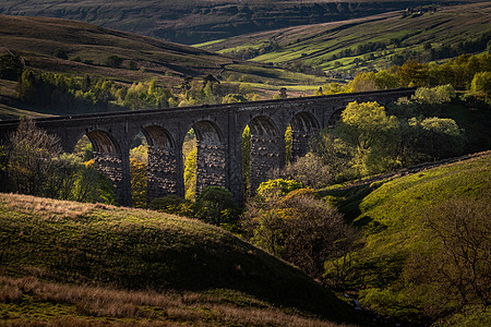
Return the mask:
[[456, 2], [445, 0], [3, 0], [0, 3], [0, 14], [77, 20], [180, 44], [196, 44], [246, 33], [368, 16], [404, 10], [408, 7]]

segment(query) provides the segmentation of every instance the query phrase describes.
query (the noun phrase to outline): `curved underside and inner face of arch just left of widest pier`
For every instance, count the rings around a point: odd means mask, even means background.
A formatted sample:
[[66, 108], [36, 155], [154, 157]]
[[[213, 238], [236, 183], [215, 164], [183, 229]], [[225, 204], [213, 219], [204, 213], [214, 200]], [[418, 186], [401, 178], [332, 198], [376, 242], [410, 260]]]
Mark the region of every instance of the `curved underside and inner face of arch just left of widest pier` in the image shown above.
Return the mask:
[[226, 187], [227, 145], [220, 129], [212, 121], [193, 124], [196, 135], [196, 196], [207, 186]]

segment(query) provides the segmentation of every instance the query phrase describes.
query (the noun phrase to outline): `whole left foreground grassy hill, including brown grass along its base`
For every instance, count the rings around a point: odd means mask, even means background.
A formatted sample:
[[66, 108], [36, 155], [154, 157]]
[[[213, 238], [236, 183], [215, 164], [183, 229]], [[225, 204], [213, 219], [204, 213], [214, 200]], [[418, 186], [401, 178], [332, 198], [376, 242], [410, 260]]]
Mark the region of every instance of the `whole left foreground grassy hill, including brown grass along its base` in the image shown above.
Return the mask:
[[[2, 318], [17, 317], [23, 310], [19, 305], [43, 312], [43, 307], [53, 303], [61, 303], [55, 305], [55, 318], [67, 312], [69, 316], [85, 318], [118, 317], [110, 312], [89, 314], [97, 306], [84, 311], [88, 304], [77, 304], [89, 303], [91, 299], [106, 303], [103, 298], [110, 298], [112, 291], [108, 290], [106, 295], [106, 291], [87, 288], [50, 291], [58, 288], [52, 282], [61, 282], [133, 290], [121, 295], [121, 301], [136, 305], [140, 312], [154, 312], [157, 320], [185, 322], [188, 312], [194, 318], [207, 317], [211, 325], [233, 324], [232, 314], [224, 314], [216, 307], [219, 304], [229, 304], [232, 312], [238, 311], [239, 325], [246, 325], [247, 320], [241, 319], [247, 318], [244, 310], [249, 308], [256, 310], [250, 312], [249, 319], [268, 311], [287, 320], [288, 313], [349, 319], [347, 307], [302, 271], [219, 228], [182, 217], [0, 194], [0, 249], [1, 275], [13, 276], [0, 280]], [[22, 286], [25, 278], [15, 279], [23, 276], [34, 276], [44, 282], [36, 280], [36, 286], [25, 291]], [[50, 282], [44, 287], [47, 281]], [[20, 289], [21, 293], [8, 292], [5, 284]], [[147, 298], [155, 292], [170, 293], [158, 295], [154, 302], [139, 302], [131, 300], [135, 291], [148, 291]], [[16, 300], [10, 301], [9, 296]], [[155, 304], [159, 302], [167, 304]], [[177, 314], [179, 308], [183, 313]], [[29, 313], [31, 318], [35, 316]], [[41, 319], [46, 316], [40, 314]], [[258, 325], [266, 324], [267, 319]], [[310, 324], [315, 325], [315, 320]]]

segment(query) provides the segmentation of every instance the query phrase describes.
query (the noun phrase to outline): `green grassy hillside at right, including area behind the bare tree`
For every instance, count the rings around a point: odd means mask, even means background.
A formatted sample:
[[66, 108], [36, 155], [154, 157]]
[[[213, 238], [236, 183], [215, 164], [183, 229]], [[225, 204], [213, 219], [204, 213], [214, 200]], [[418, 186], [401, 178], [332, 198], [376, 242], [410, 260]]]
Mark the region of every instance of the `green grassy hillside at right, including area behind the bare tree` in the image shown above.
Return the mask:
[[[462, 294], [455, 290], [457, 281], [447, 284], [440, 276], [441, 271], [452, 271], [452, 277], [462, 271], [464, 276], [459, 278], [467, 288], [466, 276], [472, 275], [467, 264], [460, 262], [460, 255], [456, 255], [456, 262], [444, 262], [442, 258], [450, 253], [442, 244], [455, 244], [451, 242], [459, 238], [446, 234], [445, 229], [454, 226], [456, 230], [466, 226], [467, 231], [482, 233], [482, 240], [477, 234], [465, 239], [466, 232], [462, 231], [459, 235], [469, 243], [452, 249], [462, 246], [475, 253], [480, 261], [474, 268], [476, 280], [482, 282], [482, 278], [488, 278], [489, 281], [489, 269], [486, 270], [489, 259], [482, 262], [482, 255], [489, 255], [491, 250], [490, 190], [489, 152], [462, 162], [368, 185], [324, 190], [326, 199], [336, 204], [346, 218], [364, 232], [361, 247], [350, 254], [351, 266], [344, 271], [345, 287], [358, 290], [363, 305], [409, 320], [434, 322], [462, 313], [466, 303], [479, 307], [480, 302], [470, 295], [472, 291], [466, 289], [464, 294], [471, 300], [463, 303]], [[442, 235], [446, 238], [444, 242]], [[469, 250], [467, 244], [474, 244], [474, 238], [479, 240], [478, 245]], [[332, 267], [328, 275], [335, 276]], [[488, 311], [475, 308], [470, 316], [472, 314], [481, 315], [481, 324], [472, 326], [487, 326], [484, 322], [491, 319], [489, 307]]]

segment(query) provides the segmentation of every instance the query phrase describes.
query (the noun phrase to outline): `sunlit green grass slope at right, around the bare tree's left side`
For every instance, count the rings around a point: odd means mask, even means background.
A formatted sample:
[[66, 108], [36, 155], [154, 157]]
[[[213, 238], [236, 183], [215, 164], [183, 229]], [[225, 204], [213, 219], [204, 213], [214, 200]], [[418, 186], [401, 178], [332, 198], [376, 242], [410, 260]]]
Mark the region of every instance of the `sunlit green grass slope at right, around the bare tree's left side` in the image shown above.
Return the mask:
[[[323, 195], [364, 233], [363, 245], [352, 253], [351, 271], [358, 272], [350, 277], [350, 287], [364, 290], [361, 301], [385, 314], [415, 318], [442, 305], [404, 272], [408, 258], [436, 246], [424, 221], [446, 201], [489, 204], [491, 153], [368, 185], [326, 190]], [[446, 209], [453, 210], [452, 203]], [[375, 292], [385, 295], [375, 301]]]

